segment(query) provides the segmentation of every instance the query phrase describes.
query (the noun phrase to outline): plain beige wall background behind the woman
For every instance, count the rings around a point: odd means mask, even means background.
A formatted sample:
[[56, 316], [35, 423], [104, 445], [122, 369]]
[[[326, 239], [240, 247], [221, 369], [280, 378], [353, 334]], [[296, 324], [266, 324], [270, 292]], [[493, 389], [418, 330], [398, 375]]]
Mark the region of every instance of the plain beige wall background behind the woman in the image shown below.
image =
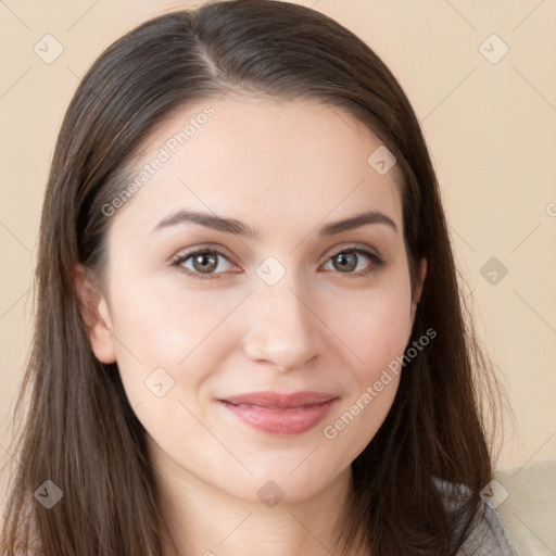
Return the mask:
[[[516, 415], [498, 468], [556, 458], [556, 2], [299, 3], [368, 42], [422, 122], [479, 329]], [[193, 4], [0, 1], [0, 458], [29, 344], [40, 205], [63, 113], [108, 45], [185, 5]], [[46, 35], [63, 47], [50, 64], [34, 51], [52, 40]], [[497, 63], [481, 53], [492, 59], [504, 45]], [[507, 268], [495, 285], [481, 275], [491, 257]]]

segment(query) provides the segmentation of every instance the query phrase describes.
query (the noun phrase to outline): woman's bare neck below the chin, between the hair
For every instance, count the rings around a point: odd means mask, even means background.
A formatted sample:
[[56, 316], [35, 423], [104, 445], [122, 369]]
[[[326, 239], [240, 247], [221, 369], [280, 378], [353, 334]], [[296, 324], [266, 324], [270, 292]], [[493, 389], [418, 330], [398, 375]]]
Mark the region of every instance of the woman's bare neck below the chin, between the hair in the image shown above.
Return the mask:
[[351, 467], [311, 498], [269, 506], [232, 496], [182, 468], [157, 475], [157, 481], [165, 520], [184, 556], [341, 554], [334, 533], [352, 493]]

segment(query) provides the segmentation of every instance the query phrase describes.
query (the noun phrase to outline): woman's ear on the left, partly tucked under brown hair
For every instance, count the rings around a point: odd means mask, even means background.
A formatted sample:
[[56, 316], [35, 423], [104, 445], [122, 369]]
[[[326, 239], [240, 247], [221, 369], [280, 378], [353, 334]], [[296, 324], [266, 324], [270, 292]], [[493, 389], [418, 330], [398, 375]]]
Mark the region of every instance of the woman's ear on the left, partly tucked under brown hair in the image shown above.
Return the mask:
[[81, 265], [74, 268], [74, 283], [96, 357], [101, 363], [114, 363], [116, 351], [106, 299]]

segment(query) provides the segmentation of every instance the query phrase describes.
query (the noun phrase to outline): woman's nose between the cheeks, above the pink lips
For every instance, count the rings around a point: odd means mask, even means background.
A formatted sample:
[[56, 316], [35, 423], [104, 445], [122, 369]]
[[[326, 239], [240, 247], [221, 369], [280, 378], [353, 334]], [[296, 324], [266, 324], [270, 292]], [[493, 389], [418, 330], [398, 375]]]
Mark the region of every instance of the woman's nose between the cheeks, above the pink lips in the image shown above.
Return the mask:
[[323, 353], [326, 327], [314, 296], [302, 293], [294, 280], [257, 283], [243, 308], [243, 350], [253, 362], [288, 371]]

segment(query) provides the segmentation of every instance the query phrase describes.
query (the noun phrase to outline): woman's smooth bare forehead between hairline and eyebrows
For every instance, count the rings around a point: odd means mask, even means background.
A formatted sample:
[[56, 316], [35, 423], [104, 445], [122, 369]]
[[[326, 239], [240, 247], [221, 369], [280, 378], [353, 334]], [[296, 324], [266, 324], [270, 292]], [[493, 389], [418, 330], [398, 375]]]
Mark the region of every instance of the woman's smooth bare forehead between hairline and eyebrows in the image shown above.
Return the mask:
[[341, 109], [230, 92], [175, 111], [150, 134], [128, 177], [139, 190], [122, 216], [152, 227], [191, 207], [264, 229], [378, 210], [402, 229], [397, 167], [380, 174], [369, 163], [379, 148]]

